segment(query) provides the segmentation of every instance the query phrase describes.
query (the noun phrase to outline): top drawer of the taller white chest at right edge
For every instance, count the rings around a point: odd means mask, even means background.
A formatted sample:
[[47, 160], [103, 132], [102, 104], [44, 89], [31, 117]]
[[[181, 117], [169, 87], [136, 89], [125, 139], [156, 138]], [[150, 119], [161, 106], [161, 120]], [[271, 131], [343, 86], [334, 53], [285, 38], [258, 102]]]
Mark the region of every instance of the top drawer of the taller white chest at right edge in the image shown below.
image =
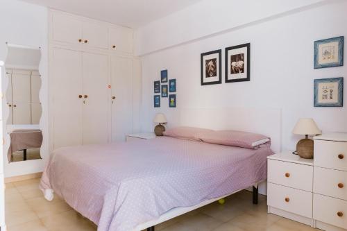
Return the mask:
[[347, 142], [314, 140], [314, 166], [347, 171]]

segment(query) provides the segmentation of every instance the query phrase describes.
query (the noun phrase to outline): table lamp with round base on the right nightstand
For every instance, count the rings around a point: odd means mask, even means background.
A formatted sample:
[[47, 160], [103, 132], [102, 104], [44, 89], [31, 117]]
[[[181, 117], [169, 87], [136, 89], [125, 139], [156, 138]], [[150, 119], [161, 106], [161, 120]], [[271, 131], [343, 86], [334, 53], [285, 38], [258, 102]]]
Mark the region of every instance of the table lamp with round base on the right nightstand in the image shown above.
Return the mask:
[[313, 159], [313, 140], [308, 139], [308, 135], [322, 134], [314, 120], [312, 118], [299, 119], [293, 133], [305, 135], [305, 139], [299, 140], [298, 144], [296, 144], [296, 154], [301, 158]]

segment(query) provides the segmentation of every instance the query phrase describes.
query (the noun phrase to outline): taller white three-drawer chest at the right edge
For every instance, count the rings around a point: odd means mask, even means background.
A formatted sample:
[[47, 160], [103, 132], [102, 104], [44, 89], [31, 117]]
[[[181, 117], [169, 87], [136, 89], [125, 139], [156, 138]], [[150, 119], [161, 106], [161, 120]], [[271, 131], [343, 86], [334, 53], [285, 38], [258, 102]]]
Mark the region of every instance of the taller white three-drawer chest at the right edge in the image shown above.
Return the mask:
[[314, 137], [313, 219], [322, 230], [347, 229], [347, 134]]

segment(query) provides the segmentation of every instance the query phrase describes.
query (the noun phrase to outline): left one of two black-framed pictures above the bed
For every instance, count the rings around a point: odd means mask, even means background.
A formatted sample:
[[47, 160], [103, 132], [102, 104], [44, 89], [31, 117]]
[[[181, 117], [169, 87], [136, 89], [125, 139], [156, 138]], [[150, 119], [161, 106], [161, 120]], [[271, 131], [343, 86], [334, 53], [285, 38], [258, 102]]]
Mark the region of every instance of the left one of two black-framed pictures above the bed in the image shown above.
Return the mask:
[[[216, 68], [217, 70], [215, 71], [216, 76], [209, 76], [206, 77], [206, 70], [204, 71], [204, 69], [206, 68], [206, 62], [208, 60], [204, 61], [204, 56], [206, 55], [213, 55], [213, 54], [217, 54], [216, 58], [218, 59], [216, 61]], [[217, 65], [218, 62], [218, 65]], [[205, 68], [204, 68], [205, 67]], [[205, 81], [205, 79], [210, 78], [210, 77], [218, 77], [217, 80], [215, 81]], [[216, 50], [216, 51], [209, 51], [209, 52], [205, 52], [205, 53], [201, 53], [201, 85], [212, 85], [212, 84], [220, 84], [221, 83], [221, 49]]]

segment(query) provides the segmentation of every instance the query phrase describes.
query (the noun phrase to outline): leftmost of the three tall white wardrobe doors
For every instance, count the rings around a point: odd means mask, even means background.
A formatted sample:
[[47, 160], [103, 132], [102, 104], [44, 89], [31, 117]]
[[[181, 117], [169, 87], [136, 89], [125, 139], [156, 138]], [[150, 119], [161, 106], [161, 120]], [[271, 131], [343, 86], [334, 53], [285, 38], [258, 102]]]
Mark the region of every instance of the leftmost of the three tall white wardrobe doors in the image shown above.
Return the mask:
[[82, 144], [82, 53], [53, 49], [51, 63], [53, 148]]

